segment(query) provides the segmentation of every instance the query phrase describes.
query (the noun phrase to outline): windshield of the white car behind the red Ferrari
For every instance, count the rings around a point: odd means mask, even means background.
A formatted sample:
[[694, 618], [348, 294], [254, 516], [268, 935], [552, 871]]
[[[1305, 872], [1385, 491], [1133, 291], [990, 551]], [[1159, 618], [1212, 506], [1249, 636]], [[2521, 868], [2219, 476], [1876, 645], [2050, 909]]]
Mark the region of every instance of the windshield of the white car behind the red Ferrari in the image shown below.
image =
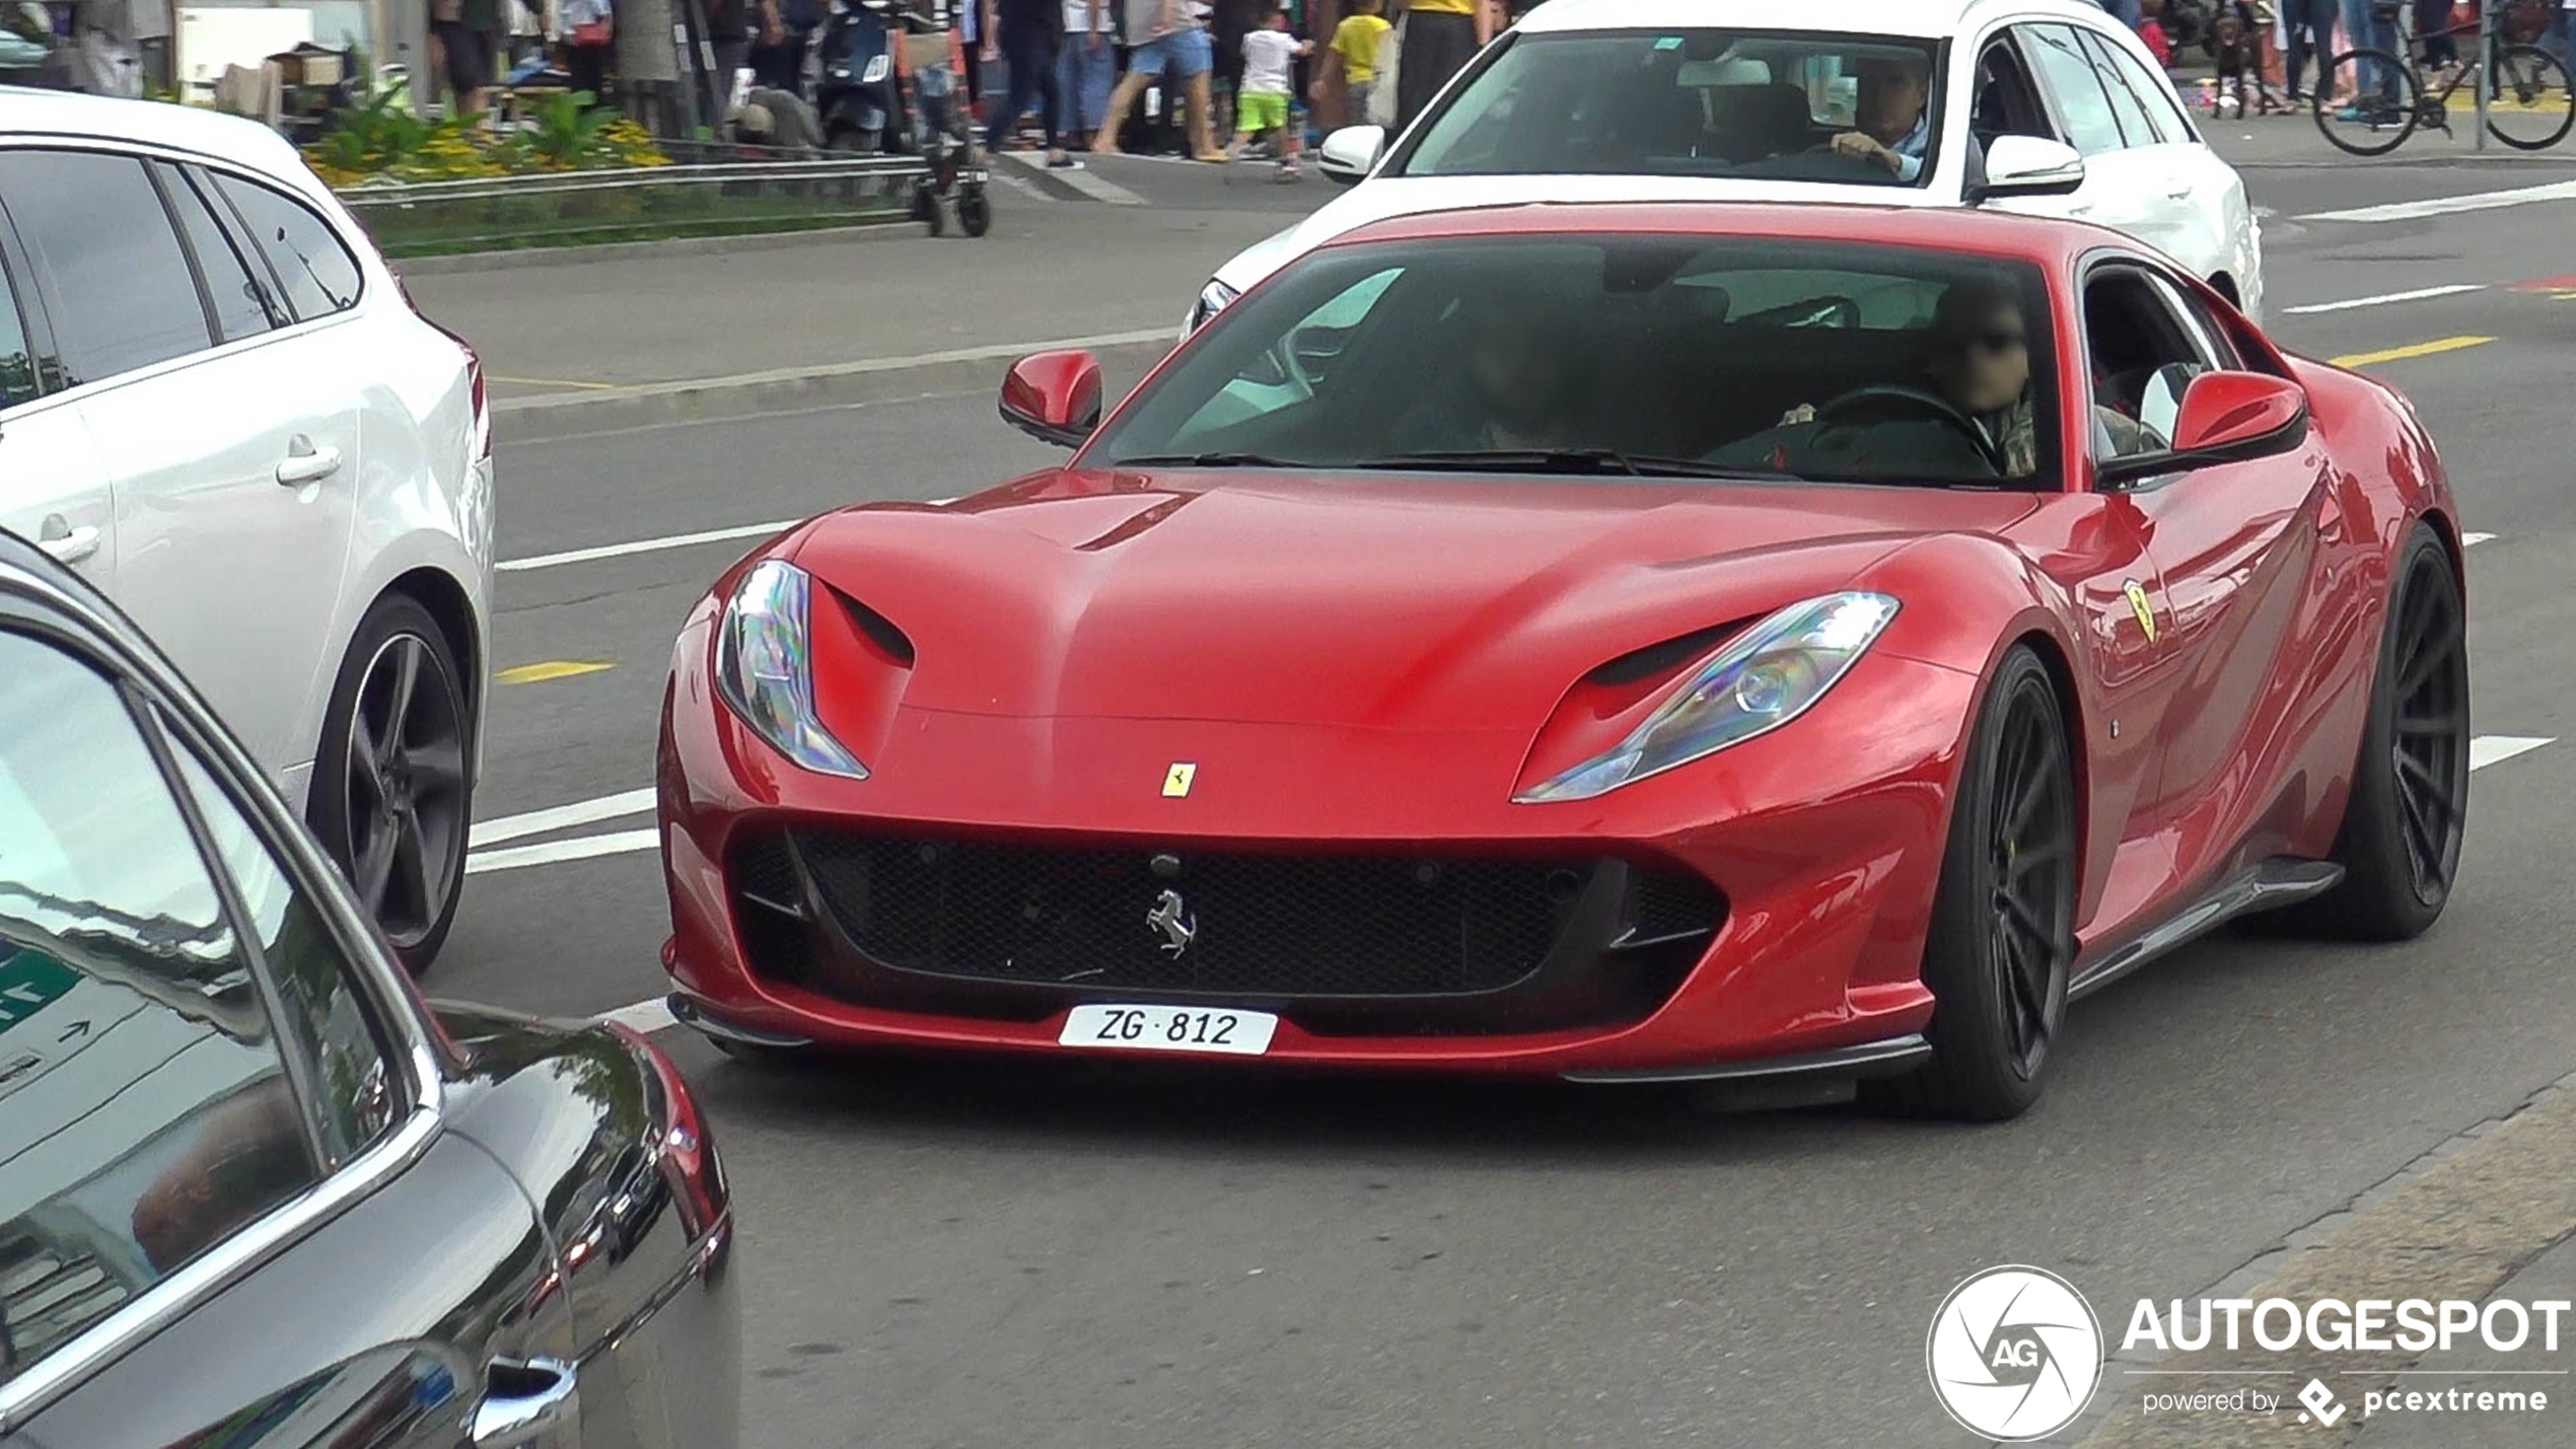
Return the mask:
[[1386, 175], [1924, 185], [1932, 41], [1775, 31], [1515, 36]]

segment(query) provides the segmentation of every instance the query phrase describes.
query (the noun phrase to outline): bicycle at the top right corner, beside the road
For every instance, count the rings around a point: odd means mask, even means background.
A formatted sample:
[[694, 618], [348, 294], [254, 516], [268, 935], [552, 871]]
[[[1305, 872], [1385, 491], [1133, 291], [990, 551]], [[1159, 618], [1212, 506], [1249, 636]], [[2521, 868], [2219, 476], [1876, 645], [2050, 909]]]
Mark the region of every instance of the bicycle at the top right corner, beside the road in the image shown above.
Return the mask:
[[[2506, 0], [2496, 15], [2496, 28], [2481, 33], [2481, 23], [2445, 26], [2434, 36], [2416, 36], [2406, 23], [2409, 5], [2372, 5], [2372, 23], [2398, 33], [2403, 57], [2378, 46], [2357, 46], [2326, 62], [2326, 75], [2316, 85], [2316, 129], [2334, 147], [2357, 157], [2385, 157], [2406, 144], [2419, 129], [2450, 136], [2450, 98], [2463, 82], [2478, 77], [2486, 88], [2486, 134], [2517, 152], [2540, 152], [2566, 139], [2576, 126], [2576, 90], [2568, 88], [2568, 67], [2550, 51], [2530, 44], [2548, 23], [2548, 0]], [[2424, 41], [2460, 41], [2483, 54], [2452, 62], [2429, 82], [2421, 57]], [[2478, 44], [2483, 39], [2483, 46]], [[2326, 77], [2352, 67], [2354, 88], [2362, 75], [2378, 77], [2378, 95], [2354, 95], [2349, 106], [2329, 100], [2334, 90]], [[2470, 93], [2476, 98], [2476, 93]]]

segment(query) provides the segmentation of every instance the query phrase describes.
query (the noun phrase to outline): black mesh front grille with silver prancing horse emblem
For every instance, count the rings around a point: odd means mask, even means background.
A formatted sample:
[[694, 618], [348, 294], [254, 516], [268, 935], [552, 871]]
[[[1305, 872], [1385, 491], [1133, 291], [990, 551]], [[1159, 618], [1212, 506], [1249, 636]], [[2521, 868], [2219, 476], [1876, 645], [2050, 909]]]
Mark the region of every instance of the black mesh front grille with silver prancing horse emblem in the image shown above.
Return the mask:
[[1311, 1029], [1350, 1032], [1636, 1017], [1723, 916], [1695, 875], [1615, 860], [799, 831], [739, 842], [729, 865], [752, 970], [1018, 1019], [1121, 993], [1309, 1004]]

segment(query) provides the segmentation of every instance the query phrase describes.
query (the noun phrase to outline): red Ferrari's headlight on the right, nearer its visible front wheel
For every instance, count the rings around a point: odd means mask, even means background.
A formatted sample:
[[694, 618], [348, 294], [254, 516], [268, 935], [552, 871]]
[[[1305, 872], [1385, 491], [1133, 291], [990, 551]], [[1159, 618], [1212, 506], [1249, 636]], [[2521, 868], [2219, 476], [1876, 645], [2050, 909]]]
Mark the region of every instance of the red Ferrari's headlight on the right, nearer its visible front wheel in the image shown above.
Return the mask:
[[1522, 803], [1589, 800], [1705, 759], [1806, 713], [1888, 620], [1888, 595], [1824, 595], [1747, 628], [1708, 656], [1618, 749], [1517, 795]]

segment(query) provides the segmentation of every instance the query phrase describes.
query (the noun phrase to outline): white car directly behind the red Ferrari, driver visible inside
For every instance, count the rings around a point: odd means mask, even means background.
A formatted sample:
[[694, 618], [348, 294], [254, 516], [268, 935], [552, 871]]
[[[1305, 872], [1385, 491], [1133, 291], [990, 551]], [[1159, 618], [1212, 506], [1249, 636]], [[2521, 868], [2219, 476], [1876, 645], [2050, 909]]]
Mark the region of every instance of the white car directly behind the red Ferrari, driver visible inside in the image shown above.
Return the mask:
[[1352, 226], [1525, 201], [2081, 216], [2262, 317], [2244, 183], [2138, 36], [2081, 0], [1551, 0], [1386, 142], [1327, 136], [1324, 175], [1358, 188], [1218, 268], [1190, 329]]

